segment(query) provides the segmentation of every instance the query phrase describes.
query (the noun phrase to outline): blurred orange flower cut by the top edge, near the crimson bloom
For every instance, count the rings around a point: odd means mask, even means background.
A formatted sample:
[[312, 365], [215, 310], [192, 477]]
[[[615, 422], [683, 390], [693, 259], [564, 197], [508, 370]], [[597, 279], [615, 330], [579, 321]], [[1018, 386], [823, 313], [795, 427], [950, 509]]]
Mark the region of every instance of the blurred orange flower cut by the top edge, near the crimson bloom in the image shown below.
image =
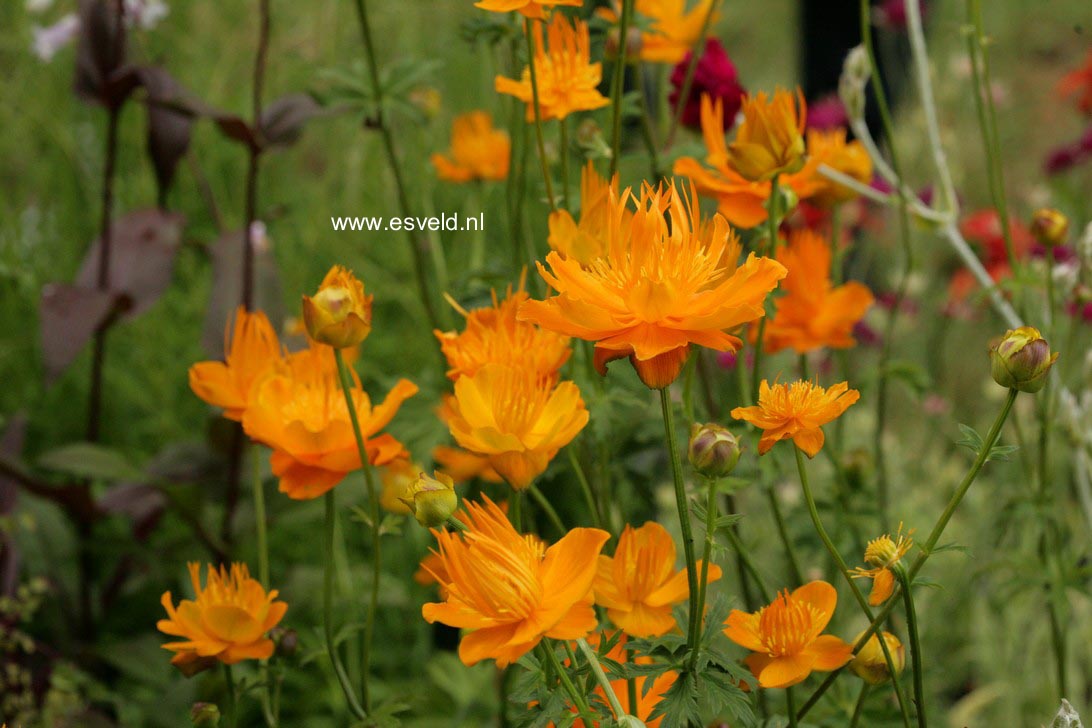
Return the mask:
[[[678, 63], [701, 40], [713, 0], [699, 0], [689, 11], [686, 0], [637, 0], [633, 9], [644, 19], [641, 25], [642, 61], [650, 63]], [[598, 11], [598, 15], [618, 22], [618, 3]], [[715, 27], [720, 13], [713, 12], [709, 27]]]

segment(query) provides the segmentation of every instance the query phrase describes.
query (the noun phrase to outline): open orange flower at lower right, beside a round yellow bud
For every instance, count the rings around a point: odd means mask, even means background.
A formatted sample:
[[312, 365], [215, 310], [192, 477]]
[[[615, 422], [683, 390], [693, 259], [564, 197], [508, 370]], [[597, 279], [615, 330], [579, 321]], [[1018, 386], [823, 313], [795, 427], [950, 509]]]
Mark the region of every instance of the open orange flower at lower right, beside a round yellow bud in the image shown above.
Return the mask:
[[763, 688], [790, 688], [812, 670], [836, 670], [853, 657], [853, 645], [822, 634], [834, 614], [838, 592], [827, 582], [787, 589], [755, 613], [733, 609], [724, 633], [751, 651], [747, 667]]

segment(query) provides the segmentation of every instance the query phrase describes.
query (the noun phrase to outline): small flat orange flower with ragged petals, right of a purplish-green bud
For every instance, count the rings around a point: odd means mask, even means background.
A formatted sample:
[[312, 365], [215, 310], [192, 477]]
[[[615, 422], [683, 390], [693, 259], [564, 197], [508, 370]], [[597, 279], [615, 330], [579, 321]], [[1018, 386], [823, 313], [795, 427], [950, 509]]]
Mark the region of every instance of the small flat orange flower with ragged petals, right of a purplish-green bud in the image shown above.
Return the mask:
[[820, 428], [838, 419], [858, 398], [860, 393], [851, 390], [845, 382], [824, 390], [814, 382], [803, 381], [771, 387], [763, 379], [758, 391], [758, 406], [736, 407], [732, 417], [763, 430], [758, 441], [759, 455], [768, 453], [780, 440], [792, 438], [808, 457], [815, 457], [822, 450]]

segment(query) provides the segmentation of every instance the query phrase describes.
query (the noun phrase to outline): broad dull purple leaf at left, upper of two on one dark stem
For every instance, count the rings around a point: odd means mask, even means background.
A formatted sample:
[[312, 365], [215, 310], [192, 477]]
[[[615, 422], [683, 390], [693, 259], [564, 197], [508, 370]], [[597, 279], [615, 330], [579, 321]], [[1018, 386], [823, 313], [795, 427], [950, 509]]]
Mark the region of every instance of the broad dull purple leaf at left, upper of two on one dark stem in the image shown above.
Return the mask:
[[[114, 222], [107, 288], [119, 297], [127, 317], [143, 312], [170, 285], [185, 219], [178, 213], [141, 210]], [[99, 246], [96, 240], [84, 256], [80, 286], [96, 287]]]

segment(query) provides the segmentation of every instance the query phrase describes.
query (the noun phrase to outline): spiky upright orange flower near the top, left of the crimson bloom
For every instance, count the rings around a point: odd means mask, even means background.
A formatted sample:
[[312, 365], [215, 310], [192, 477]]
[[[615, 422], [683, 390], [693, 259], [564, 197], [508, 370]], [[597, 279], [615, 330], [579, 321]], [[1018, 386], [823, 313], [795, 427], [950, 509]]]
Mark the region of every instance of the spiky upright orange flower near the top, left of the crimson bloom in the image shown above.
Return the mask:
[[[591, 62], [587, 24], [556, 13], [543, 45], [542, 25], [535, 24], [535, 75], [538, 82], [538, 111], [543, 120], [563, 119], [573, 111], [591, 111], [610, 103], [598, 92], [602, 63]], [[524, 68], [519, 81], [498, 75], [497, 93], [515, 96], [527, 105], [527, 121], [534, 121], [531, 69]]]

